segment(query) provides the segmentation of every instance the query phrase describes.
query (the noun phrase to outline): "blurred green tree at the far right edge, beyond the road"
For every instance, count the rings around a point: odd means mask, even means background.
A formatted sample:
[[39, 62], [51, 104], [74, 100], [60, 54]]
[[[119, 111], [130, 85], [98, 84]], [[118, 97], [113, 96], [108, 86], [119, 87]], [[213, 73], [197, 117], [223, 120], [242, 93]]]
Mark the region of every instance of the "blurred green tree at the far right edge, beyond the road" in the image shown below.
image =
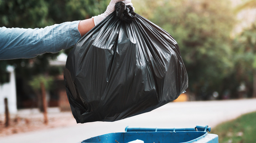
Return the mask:
[[237, 77], [252, 88], [252, 97], [256, 97], [256, 23], [244, 29], [237, 37], [234, 46], [237, 51], [235, 57]]

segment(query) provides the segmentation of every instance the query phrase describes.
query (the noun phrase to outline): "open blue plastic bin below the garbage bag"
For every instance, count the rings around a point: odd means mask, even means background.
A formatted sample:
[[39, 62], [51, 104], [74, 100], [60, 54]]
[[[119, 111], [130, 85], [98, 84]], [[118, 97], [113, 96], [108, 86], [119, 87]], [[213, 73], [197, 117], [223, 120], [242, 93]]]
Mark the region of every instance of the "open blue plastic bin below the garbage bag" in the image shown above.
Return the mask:
[[81, 143], [128, 143], [142, 140], [144, 143], [218, 143], [218, 135], [208, 134], [208, 126], [195, 128], [128, 128], [124, 133], [99, 135]]

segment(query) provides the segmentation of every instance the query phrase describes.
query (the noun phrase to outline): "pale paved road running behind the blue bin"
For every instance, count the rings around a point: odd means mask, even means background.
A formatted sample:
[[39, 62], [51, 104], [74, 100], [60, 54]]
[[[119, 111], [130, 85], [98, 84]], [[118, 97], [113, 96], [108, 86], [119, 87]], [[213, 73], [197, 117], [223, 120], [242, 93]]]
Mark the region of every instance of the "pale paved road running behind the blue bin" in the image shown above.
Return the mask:
[[256, 111], [256, 99], [168, 103], [156, 110], [115, 122], [93, 122], [72, 127], [22, 133], [0, 138], [0, 143], [76, 143], [130, 127], [216, 126], [226, 120]]

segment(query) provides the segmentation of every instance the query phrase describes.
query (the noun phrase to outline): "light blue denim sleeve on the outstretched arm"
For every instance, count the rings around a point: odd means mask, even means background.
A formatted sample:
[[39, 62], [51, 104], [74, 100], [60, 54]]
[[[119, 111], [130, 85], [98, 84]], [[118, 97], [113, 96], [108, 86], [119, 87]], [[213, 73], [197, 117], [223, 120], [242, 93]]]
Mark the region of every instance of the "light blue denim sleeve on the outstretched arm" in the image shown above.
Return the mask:
[[77, 28], [79, 22], [65, 22], [40, 29], [0, 27], [0, 60], [32, 58], [73, 47], [81, 38]]

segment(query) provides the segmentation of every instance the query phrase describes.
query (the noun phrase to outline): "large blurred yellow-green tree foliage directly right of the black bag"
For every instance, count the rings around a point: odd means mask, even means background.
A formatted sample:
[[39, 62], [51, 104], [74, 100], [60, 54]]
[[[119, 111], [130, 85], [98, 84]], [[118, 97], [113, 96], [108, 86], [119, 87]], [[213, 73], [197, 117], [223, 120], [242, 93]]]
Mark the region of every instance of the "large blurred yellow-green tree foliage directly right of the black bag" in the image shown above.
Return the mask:
[[[235, 16], [229, 4], [222, 0], [166, 0], [151, 19], [177, 40], [189, 90], [198, 95], [221, 92], [223, 79], [233, 70], [230, 33]], [[205, 90], [209, 93], [203, 93]]]

